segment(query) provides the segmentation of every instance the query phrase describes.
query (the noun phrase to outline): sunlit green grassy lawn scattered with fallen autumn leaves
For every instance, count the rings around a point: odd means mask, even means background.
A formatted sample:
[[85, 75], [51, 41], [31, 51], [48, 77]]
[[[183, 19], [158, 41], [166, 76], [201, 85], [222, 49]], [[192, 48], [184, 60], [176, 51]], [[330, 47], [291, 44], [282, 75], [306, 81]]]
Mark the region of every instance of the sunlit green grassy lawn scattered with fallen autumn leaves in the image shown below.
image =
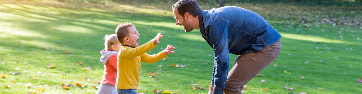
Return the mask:
[[[189, 87], [200, 84], [199, 87], [208, 88], [213, 67], [212, 48], [198, 30], [189, 33], [180, 30], [182, 27], [175, 25], [169, 6], [1, 1], [0, 73], [7, 78], [0, 78], [0, 93], [24, 94], [40, 89], [23, 86], [27, 83], [31, 83], [31, 86], [48, 84], [41, 87], [45, 91], [37, 94], [96, 93], [97, 89], [92, 86], [99, 84], [93, 80], [100, 81], [104, 69], [99, 60], [99, 52], [104, 49], [103, 38], [106, 34], [113, 34], [117, 24], [131, 22], [140, 33], [140, 44], [151, 40], [158, 32], [164, 35], [160, 44], [148, 54], [156, 54], [168, 44], [177, 47], [176, 53], [170, 54], [165, 61], [142, 63], [138, 93], [154, 94], [152, 90], [157, 88], [181, 90], [175, 94], [206, 94], [208, 89], [193, 90]], [[360, 25], [349, 25], [348, 22], [340, 26], [323, 23], [328, 21], [323, 18], [326, 15], [329, 15], [328, 19], [361, 23], [361, 7], [283, 4], [234, 6], [260, 14], [282, 35], [279, 57], [261, 71], [262, 76], [254, 77], [247, 84], [249, 90], [244, 89], [245, 94], [289, 94], [290, 90], [284, 86], [294, 88], [296, 94], [362, 93], [362, 85], [356, 83], [358, 78], [362, 78]], [[211, 9], [212, 6], [201, 8]], [[47, 46], [51, 48], [45, 49]], [[66, 51], [71, 53], [64, 53]], [[236, 55], [229, 56], [231, 68]], [[83, 65], [77, 65], [78, 62], [83, 62]], [[167, 67], [173, 63], [186, 67]], [[49, 64], [55, 64], [55, 67], [47, 68]], [[277, 67], [273, 64], [277, 64]], [[82, 70], [84, 67], [90, 67], [91, 70]], [[12, 75], [10, 71], [20, 74]], [[148, 72], [161, 75], [149, 77]], [[301, 76], [304, 78], [300, 79]], [[64, 83], [75, 86], [62, 89], [61, 84]], [[80, 87], [76, 83], [87, 85]], [[265, 88], [268, 90], [263, 90]]]

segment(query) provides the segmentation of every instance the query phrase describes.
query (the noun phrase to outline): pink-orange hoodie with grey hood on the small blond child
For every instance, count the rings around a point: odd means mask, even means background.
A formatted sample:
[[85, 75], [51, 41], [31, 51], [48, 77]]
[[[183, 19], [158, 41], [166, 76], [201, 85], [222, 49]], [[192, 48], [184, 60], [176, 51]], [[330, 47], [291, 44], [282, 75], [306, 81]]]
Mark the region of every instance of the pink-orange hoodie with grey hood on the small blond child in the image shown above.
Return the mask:
[[100, 52], [101, 62], [104, 64], [104, 72], [101, 84], [115, 85], [115, 79], [117, 78], [117, 51], [102, 50]]

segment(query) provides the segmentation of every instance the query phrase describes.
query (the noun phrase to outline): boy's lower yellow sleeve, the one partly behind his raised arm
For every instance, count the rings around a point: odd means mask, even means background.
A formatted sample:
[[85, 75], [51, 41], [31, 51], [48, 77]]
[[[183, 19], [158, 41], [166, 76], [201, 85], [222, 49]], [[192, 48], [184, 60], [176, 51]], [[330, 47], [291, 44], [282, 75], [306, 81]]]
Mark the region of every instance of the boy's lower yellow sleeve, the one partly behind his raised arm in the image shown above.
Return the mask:
[[153, 54], [153, 55], [144, 53], [141, 55], [141, 61], [145, 62], [145, 63], [155, 63], [166, 57], [168, 57], [168, 55], [166, 55], [164, 52], [160, 52], [160, 53]]

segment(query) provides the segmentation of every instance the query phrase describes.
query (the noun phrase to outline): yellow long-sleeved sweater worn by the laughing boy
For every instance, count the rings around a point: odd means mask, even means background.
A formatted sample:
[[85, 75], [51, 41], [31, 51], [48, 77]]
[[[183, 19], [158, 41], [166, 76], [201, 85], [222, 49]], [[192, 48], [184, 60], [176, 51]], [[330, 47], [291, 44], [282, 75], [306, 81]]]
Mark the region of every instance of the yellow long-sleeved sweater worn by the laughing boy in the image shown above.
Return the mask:
[[115, 82], [117, 89], [137, 89], [141, 61], [155, 63], [168, 56], [164, 52], [153, 55], [146, 53], [155, 47], [153, 41], [148, 41], [137, 48], [122, 45], [117, 60], [118, 75]]

